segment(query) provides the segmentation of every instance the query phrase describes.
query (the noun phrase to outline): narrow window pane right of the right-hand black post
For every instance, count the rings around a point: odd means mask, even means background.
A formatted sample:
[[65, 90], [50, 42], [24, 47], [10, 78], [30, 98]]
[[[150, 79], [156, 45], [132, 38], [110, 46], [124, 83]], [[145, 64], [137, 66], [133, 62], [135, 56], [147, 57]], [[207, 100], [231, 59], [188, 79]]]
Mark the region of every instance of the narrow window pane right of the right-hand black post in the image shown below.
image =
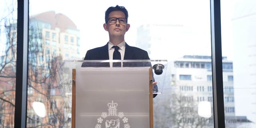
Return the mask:
[[256, 1], [221, 0], [226, 128], [256, 127]]

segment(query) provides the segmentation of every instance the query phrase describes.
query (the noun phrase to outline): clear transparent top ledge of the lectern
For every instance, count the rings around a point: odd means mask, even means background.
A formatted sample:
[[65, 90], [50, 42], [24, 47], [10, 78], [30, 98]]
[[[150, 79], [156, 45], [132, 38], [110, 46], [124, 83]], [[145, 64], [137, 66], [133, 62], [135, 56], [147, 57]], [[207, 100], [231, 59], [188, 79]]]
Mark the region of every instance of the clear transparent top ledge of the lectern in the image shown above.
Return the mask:
[[[127, 67], [151, 67], [153, 71], [153, 81], [157, 82], [157, 89], [153, 88], [153, 94], [161, 94], [166, 77], [167, 60], [65, 60], [65, 68], [127, 68]], [[116, 66], [116, 64], [119, 66]]]

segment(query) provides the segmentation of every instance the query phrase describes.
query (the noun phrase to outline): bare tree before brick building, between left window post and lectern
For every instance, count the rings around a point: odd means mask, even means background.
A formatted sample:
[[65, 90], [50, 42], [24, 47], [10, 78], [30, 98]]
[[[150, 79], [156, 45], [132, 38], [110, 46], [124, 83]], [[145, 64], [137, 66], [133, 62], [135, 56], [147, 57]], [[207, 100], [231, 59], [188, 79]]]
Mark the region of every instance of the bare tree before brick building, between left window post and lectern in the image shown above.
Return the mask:
[[[63, 128], [71, 126], [71, 79], [66, 73], [62, 57], [48, 50], [44, 34], [37, 23], [30, 20], [28, 55], [28, 127]], [[35, 115], [33, 102], [46, 106], [46, 117]]]

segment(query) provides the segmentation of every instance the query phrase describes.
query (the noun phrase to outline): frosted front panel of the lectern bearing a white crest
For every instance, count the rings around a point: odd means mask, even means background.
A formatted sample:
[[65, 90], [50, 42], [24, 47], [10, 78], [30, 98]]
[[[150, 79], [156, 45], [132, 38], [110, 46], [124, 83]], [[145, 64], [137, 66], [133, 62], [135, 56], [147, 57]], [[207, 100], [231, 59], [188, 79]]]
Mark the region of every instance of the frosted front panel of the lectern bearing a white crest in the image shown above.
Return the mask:
[[76, 68], [76, 128], [149, 128], [149, 69]]

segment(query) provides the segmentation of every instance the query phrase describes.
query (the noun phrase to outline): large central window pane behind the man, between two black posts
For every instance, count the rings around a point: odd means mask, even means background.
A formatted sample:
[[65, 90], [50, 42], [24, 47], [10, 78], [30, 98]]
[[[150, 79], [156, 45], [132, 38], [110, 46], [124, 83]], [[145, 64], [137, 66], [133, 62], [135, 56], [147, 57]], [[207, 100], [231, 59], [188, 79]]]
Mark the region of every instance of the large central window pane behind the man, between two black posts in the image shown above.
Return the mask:
[[[62, 6], [59, 6], [60, 2]], [[70, 57], [83, 60], [87, 50], [109, 41], [108, 32], [102, 27], [104, 12], [109, 6], [116, 6], [116, 1], [101, 0], [101, 4], [98, 3], [30, 0], [29, 38], [41, 40], [42, 52], [35, 50], [38, 42], [29, 42], [28, 84], [33, 87], [34, 94], [28, 96], [27, 112], [31, 119], [27, 120], [27, 126], [71, 126], [72, 103], [67, 94], [72, 92], [72, 83], [69, 74], [65, 74], [67, 71], [63, 71], [65, 68], [56, 60]], [[96, 10], [93, 5], [97, 5]], [[125, 6], [129, 13], [131, 27], [126, 32], [125, 42], [146, 50], [152, 60], [168, 60], [164, 91], [154, 98], [154, 127], [212, 128], [212, 82], [207, 76], [212, 74], [210, 1], [139, 0], [136, 4], [122, 1], [118, 5]], [[82, 17], [76, 15], [81, 12]], [[94, 20], [88, 20], [88, 17]], [[55, 39], [51, 37], [53, 33], [56, 33]], [[42, 55], [44, 58], [39, 61]], [[30, 105], [34, 102], [43, 103], [46, 109], [39, 120]], [[198, 110], [204, 108], [208, 110], [207, 115], [198, 114]]]

